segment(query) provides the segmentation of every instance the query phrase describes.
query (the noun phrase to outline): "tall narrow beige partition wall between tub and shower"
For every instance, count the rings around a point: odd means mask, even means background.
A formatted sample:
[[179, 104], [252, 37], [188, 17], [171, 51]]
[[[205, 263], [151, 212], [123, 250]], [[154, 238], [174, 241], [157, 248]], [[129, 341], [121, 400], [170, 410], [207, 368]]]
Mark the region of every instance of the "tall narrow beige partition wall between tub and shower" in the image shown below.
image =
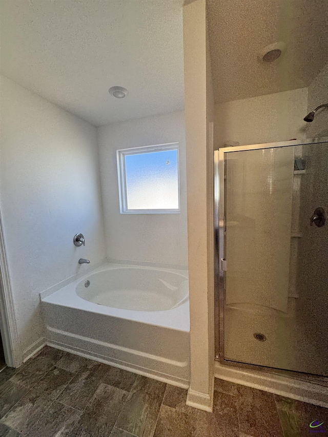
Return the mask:
[[213, 322], [213, 92], [207, 56], [206, 2], [183, 7], [186, 93], [188, 262], [191, 379], [187, 404], [212, 410]]

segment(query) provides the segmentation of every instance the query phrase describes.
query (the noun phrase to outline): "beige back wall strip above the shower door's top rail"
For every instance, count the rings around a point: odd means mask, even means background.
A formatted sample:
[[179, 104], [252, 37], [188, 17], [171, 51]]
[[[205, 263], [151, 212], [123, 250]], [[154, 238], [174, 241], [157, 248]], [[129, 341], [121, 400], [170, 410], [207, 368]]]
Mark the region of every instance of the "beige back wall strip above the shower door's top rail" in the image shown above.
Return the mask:
[[215, 105], [215, 146], [226, 141], [243, 145], [305, 138], [307, 108], [307, 88]]

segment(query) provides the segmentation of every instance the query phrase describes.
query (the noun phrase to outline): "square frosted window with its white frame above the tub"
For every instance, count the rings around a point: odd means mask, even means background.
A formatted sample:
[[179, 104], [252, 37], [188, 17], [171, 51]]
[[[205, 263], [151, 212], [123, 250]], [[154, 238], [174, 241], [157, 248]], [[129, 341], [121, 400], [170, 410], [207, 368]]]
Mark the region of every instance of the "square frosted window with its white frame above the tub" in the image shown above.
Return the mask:
[[179, 213], [177, 142], [117, 151], [121, 214]]

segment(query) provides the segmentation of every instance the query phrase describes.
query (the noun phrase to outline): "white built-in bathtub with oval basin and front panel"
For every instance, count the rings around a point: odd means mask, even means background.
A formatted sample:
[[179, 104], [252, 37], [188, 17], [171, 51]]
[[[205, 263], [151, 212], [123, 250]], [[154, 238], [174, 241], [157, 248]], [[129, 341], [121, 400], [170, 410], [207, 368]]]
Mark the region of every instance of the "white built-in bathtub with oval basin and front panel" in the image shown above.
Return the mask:
[[105, 264], [41, 307], [50, 346], [189, 386], [186, 270]]

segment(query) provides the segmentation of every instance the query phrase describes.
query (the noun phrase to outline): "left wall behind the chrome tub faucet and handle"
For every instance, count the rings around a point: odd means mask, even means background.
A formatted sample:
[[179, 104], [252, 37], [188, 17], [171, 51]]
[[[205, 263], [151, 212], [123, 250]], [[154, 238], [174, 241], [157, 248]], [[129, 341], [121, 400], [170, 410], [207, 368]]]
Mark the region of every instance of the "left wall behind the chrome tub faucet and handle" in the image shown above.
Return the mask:
[[[6, 77], [1, 97], [0, 205], [27, 353], [43, 336], [39, 293], [85, 268], [79, 258], [105, 258], [97, 137], [88, 122]], [[73, 245], [78, 232], [85, 247]]]

